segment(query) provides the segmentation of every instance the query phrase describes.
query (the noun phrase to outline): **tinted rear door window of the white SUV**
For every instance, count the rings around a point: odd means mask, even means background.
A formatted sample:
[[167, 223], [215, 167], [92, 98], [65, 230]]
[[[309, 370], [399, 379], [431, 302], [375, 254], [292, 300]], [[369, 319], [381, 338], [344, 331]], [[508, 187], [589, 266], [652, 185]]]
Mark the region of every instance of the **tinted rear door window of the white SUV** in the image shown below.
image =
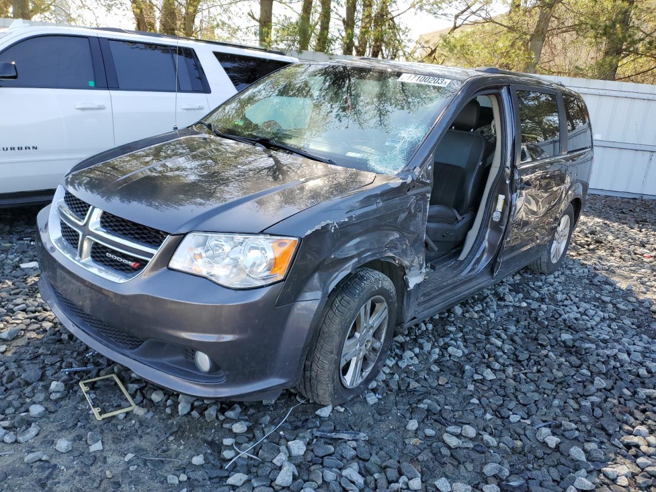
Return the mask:
[[[175, 91], [175, 47], [108, 41], [119, 89]], [[178, 91], [203, 92], [201, 75], [190, 48], [178, 49]]]

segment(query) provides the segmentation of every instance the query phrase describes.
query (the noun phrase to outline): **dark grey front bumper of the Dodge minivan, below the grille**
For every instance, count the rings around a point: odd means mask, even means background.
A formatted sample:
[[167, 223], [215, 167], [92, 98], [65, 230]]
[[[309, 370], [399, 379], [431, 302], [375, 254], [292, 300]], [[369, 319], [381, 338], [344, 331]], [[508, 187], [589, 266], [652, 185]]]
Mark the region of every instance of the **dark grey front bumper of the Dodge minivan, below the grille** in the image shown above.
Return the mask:
[[[52, 245], [48, 216], [46, 207], [37, 217], [39, 291], [85, 344], [159, 386], [203, 398], [264, 400], [297, 384], [325, 299], [276, 306], [282, 283], [236, 291], [165, 266], [113, 282]], [[196, 369], [195, 350], [215, 370]]]

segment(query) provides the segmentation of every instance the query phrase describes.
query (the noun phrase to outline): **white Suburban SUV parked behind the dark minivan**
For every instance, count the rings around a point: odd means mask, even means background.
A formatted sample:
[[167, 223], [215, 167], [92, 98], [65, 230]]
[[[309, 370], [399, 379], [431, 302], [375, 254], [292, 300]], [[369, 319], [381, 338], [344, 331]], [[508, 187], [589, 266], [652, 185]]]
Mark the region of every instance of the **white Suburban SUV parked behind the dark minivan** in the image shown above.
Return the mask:
[[41, 201], [84, 157], [191, 125], [297, 61], [278, 51], [135, 31], [0, 31], [0, 205]]

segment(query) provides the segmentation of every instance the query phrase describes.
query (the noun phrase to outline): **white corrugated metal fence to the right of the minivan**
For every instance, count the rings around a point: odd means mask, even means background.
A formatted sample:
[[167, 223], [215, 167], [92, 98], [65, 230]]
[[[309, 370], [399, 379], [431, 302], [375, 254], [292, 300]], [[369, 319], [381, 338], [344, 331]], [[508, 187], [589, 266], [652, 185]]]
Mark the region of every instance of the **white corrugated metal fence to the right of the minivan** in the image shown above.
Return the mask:
[[583, 96], [592, 120], [591, 192], [656, 198], [656, 85], [548, 77]]

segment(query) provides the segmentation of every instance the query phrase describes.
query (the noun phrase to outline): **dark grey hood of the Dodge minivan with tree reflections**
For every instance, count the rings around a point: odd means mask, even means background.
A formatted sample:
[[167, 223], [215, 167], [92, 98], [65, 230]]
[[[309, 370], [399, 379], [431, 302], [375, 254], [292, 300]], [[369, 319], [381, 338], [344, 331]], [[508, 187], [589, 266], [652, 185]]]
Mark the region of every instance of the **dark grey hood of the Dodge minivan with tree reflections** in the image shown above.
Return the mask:
[[194, 133], [173, 134], [101, 163], [80, 163], [65, 184], [94, 207], [171, 234], [256, 233], [374, 177]]

